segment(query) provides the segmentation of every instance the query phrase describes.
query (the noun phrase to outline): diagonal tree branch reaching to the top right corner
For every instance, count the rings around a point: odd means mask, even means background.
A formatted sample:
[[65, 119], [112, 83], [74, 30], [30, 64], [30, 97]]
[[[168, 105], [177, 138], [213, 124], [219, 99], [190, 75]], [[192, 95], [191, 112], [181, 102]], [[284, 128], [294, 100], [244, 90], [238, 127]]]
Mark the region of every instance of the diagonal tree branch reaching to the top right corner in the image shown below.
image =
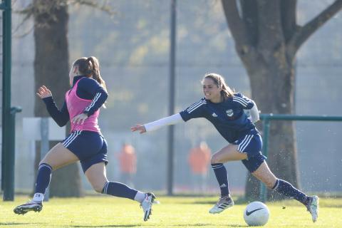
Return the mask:
[[342, 8], [342, 0], [336, 0], [333, 4], [328, 6], [325, 10], [318, 14], [314, 19], [309, 21], [305, 26], [299, 27], [297, 32], [291, 38], [291, 46], [294, 53], [299, 50], [301, 45], [315, 32], [323, 26], [329, 19], [331, 19]]

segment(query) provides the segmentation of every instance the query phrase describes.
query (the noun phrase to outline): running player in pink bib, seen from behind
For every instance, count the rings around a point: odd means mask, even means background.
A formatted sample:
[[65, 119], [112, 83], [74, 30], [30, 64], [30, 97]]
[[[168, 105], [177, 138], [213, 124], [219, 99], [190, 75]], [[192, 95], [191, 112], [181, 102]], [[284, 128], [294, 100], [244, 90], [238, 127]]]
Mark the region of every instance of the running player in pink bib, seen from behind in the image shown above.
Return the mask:
[[134, 190], [120, 182], [110, 182], [105, 175], [105, 165], [108, 163], [107, 142], [98, 127], [98, 115], [108, 93], [105, 81], [100, 76], [98, 59], [93, 56], [78, 58], [71, 67], [69, 78], [71, 89], [66, 92], [66, 100], [61, 110], [56, 107], [52, 93], [46, 86], [38, 89], [37, 95], [43, 99], [48, 113], [59, 126], [64, 126], [71, 120], [71, 133], [41, 160], [33, 199], [16, 207], [14, 212], [40, 212], [46, 188], [51, 180], [51, 172], [79, 160], [83, 172], [96, 192], [140, 202], [144, 221], [147, 221], [155, 195]]

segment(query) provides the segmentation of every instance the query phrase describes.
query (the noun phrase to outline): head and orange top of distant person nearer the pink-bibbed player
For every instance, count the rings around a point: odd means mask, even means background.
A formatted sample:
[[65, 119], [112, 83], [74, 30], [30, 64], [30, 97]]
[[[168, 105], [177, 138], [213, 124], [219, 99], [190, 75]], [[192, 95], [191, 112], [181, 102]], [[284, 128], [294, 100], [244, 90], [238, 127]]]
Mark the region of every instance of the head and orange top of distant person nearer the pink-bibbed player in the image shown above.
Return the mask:
[[134, 174], [137, 172], [137, 156], [135, 149], [130, 144], [123, 144], [119, 154], [120, 171], [122, 173]]

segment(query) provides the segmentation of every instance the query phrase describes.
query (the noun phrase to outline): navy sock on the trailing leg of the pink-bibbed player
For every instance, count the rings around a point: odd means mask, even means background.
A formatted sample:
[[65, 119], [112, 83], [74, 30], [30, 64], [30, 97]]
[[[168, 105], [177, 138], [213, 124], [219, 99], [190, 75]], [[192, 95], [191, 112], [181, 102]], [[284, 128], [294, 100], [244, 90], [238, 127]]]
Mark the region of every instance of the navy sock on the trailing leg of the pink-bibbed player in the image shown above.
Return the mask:
[[137, 190], [133, 190], [123, 183], [110, 181], [105, 183], [105, 186], [103, 186], [102, 190], [102, 194], [113, 195], [115, 197], [123, 197], [133, 200], [137, 192]]

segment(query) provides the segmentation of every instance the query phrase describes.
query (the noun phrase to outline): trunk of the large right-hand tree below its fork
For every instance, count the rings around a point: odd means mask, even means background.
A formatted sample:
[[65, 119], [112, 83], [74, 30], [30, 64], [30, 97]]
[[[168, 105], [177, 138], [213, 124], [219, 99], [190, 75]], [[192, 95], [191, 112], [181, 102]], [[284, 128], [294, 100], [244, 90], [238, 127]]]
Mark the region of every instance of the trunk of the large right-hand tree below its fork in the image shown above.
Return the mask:
[[[272, 53], [271, 56], [274, 58], [263, 58], [262, 53], [255, 55], [257, 58], [244, 58], [244, 63], [247, 63], [245, 66], [251, 83], [252, 98], [261, 113], [294, 114], [293, 61], [286, 58], [286, 51], [282, 48], [266, 52]], [[249, 63], [251, 60], [253, 63]], [[291, 121], [271, 121], [267, 163], [276, 177], [299, 187], [294, 135], [294, 123]], [[259, 183], [250, 174], [247, 177], [246, 197], [259, 199]], [[283, 199], [271, 191], [268, 197]]]

